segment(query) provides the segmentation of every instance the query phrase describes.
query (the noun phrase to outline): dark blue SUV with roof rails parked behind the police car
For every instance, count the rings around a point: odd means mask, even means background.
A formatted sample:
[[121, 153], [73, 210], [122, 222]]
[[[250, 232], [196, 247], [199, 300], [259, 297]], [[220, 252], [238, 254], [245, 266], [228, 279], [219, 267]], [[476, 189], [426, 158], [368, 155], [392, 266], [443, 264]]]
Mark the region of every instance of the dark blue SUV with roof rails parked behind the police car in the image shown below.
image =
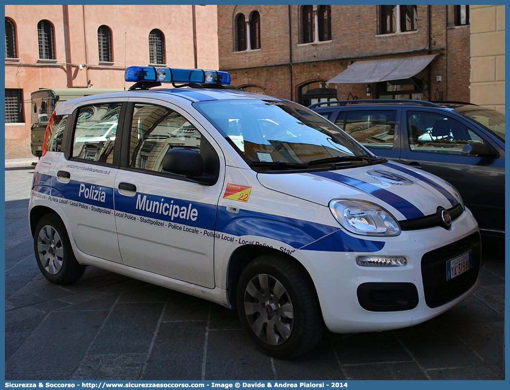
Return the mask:
[[482, 234], [504, 237], [505, 117], [477, 105], [417, 100], [317, 103], [377, 156], [414, 166], [460, 191]]

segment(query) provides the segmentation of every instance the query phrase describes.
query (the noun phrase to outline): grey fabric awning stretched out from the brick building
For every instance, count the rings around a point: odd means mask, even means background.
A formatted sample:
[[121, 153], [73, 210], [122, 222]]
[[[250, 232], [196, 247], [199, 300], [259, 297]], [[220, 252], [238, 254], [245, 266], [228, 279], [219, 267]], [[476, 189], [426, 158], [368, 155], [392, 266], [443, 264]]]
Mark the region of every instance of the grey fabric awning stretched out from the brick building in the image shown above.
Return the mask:
[[328, 83], [377, 83], [408, 79], [417, 75], [436, 54], [382, 60], [356, 61]]

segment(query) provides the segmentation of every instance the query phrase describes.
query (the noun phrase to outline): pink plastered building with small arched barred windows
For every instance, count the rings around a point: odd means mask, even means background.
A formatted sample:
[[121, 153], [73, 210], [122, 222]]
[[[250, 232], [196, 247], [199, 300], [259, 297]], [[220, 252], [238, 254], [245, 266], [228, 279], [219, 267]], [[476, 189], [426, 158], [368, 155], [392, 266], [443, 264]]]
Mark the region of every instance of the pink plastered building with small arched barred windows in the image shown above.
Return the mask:
[[7, 158], [32, 156], [39, 88], [124, 88], [131, 65], [218, 69], [216, 5], [6, 5], [5, 28]]

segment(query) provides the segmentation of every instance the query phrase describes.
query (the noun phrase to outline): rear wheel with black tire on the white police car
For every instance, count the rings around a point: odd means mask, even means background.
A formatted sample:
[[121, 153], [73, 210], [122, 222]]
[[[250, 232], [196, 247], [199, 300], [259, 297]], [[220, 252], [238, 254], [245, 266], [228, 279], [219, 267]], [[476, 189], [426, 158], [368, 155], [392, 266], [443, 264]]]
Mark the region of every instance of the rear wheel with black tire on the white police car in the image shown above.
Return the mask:
[[57, 214], [46, 214], [37, 224], [34, 251], [41, 273], [52, 283], [72, 283], [85, 271], [74, 257], [67, 230]]

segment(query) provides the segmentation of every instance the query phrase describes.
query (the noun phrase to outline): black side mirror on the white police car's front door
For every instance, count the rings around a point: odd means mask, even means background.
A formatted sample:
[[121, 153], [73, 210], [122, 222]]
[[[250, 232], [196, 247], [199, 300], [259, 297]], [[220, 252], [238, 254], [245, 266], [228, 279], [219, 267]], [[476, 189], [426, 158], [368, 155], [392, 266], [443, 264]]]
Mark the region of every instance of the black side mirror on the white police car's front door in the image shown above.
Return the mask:
[[163, 157], [163, 170], [205, 185], [213, 185], [217, 177], [203, 172], [203, 159], [200, 153], [190, 149], [174, 149]]

